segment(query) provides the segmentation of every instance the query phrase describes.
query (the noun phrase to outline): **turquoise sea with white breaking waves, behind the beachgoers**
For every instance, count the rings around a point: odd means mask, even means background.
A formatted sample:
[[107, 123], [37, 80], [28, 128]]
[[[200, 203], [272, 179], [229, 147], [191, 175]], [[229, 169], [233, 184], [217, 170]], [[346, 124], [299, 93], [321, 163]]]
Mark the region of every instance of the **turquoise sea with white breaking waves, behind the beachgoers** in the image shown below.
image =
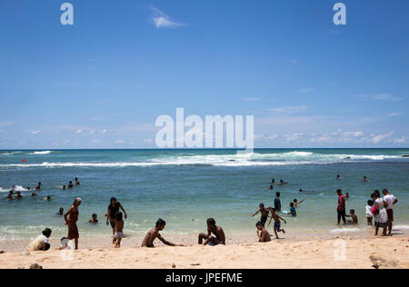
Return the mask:
[[[125, 233], [141, 235], [166, 220], [166, 232], [191, 236], [205, 231], [205, 219], [214, 217], [226, 233], [251, 233], [257, 218], [251, 214], [259, 203], [273, 204], [275, 192], [282, 204], [306, 197], [296, 219], [289, 218], [290, 233], [336, 233], [338, 188], [349, 193], [347, 209], [354, 208], [360, 226], [364, 207], [374, 189], [389, 189], [399, 199], [395, 225], [409, 228], [409, 149], [260, 149], [241, 154], [235, 150], [61, 150], [0, 152], [0, 197], [13, 185], [24, 198], [0, 201], [0, 240], [27, 239], [51, 227], [65, 235], [60, 207], [69, 208], [76, 196], [80, 207], [81, 236], [106, 236], [105, 224], [87, 223], [97, 213], [105, 223], [109, 199], [115, 196], [129, 215]], [[25, 159], [25, 163], [22, 160]], [[341, 180], [335, 175], [341, 174]], [[362, 181], [366, 175], [370, 183]], [[78, 177], [80, 187], [63, 191], [60, 186]], [[271, 179], [289, 182], [268, 189]], [[43, 183], [38, 197], [23, 187]], [[314, 191], [300, 194], [299, 189]], [[51, 196], [46, 202], [43, 198]]]

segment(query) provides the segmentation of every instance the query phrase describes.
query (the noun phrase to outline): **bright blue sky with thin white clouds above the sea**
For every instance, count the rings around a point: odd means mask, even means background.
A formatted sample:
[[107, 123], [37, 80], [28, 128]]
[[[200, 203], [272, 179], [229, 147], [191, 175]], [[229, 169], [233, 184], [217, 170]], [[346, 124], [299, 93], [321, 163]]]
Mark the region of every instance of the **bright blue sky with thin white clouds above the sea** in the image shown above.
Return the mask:
[[253, 114], [256, 147], [408, 147], [409, 2], [0, 2], [0, 148], [150, 148], [162, 114]]

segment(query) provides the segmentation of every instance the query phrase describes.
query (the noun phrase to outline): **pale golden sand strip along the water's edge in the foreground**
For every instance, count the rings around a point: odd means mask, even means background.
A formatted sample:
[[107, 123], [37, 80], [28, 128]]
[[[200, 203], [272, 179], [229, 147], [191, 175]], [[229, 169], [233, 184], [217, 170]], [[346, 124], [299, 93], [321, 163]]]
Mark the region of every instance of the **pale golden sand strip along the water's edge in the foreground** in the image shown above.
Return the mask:
[[406, 235], [373, 239], [343, 236], [332, 240], [273, 241], [213, 248], [194, 245], [0, 254], [3, 269], [28, 269], [33, 263], [44, 269], [371, 269], [374, 265], [380, 269], [405, 269], [409, 268], [409, 240]]

